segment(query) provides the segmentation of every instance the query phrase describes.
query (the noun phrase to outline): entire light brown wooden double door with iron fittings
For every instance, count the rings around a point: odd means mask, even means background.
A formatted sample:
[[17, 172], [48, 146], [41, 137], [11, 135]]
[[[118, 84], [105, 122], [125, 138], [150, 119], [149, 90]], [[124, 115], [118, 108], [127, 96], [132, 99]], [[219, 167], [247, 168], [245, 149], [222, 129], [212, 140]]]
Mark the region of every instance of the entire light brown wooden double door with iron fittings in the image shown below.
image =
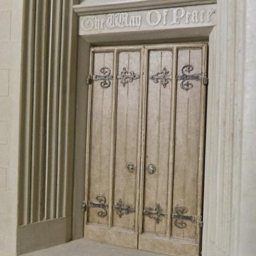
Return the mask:
[[207, 45], [90, 53], [85, 238], [198, 256]]

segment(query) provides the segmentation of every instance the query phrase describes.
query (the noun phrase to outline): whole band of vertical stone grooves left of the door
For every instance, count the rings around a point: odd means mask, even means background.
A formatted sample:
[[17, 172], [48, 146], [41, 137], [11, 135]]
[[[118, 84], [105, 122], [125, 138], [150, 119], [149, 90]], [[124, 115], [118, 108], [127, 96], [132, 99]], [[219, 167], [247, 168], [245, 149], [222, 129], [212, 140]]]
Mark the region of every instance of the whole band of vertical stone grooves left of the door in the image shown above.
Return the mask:
[[71, 214], [76, 79], [73, 1], [25, 1], [24, 10], [18, 225]]

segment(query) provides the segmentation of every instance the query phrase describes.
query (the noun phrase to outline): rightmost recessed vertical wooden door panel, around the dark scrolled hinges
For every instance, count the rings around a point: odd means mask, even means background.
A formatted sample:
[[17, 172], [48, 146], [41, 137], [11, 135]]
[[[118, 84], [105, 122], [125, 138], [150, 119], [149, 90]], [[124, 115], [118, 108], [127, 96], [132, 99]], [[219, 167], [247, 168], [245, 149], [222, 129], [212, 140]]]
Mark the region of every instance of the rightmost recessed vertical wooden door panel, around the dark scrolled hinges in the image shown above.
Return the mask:
[[[190, 74], [202, 73], [202, 50], [178, 50], [178, 75], [185, 65], [193, 66]], [[201, 141], [201, 81], [190, 81], [191, 89], [185, 90], [178, 81], [175, 124], [175, 164], [173, 212], [175, 207], [184, 206], [186, 215], [198, 216], [199, 146]], [[173, 222], [172, 237], [197, 241], [198, 223], [186, 221], [186, 228]]]

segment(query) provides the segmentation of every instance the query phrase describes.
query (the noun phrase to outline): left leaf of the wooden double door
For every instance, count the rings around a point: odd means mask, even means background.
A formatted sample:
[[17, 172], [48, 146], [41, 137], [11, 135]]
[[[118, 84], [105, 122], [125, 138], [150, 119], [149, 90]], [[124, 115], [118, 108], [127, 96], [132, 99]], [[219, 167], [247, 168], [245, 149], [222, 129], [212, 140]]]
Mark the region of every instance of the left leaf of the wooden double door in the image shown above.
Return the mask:
[[138, 237], [141, 51], [92, 49], [89, 87], [84, 236], [133, 248]]

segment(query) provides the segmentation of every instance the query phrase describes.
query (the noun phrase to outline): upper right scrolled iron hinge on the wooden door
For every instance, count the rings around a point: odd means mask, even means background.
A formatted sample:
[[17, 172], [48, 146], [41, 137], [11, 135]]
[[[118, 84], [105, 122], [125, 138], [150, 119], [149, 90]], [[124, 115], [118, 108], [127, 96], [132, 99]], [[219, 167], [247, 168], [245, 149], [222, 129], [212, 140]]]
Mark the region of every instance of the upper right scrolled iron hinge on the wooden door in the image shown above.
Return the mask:
[[[202, 80], [202, 74], [190, 74], [190, 72], [193, 70], [194, 70], [194, 67], [192, 65], [185, 65], [182, 68], [182, 74], [177, 76], [177, 79], [181, 80], [180, 87], [182, 87], [182, 89], [190, 90], [191, 88], [193, 88], [194, 85], [192, 82], [190, 82], [190, 80], [196, 80], [196, 81]], [[203, 82], [206, 79], [207, 78], [204, 77]], [[204, 84], [206, 83], [204, 82]]]

